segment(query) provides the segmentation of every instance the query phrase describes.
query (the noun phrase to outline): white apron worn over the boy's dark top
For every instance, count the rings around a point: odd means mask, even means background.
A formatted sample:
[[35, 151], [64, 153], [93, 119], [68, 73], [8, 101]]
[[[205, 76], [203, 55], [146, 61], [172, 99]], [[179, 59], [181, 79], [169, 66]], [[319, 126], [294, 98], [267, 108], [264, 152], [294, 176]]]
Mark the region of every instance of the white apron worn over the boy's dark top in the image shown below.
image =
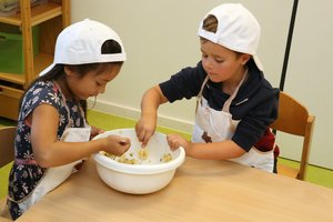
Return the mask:
[[[239, 83], [233, 94], [225, 101], [222, 111], [216, 111], [209, 107], [208, 101], [202, 97], [202, 91], [206, 84], [209, 77], [204, 80], [201, 91], [198, 95], [198, 105], [195, 122], [192, 133], [192, 142], [218, 142], [230, 140], [240, 120], [232, 120], [232, 114], [229, 111], [232, 100], [235, 98], [240, 85], [243, 83], [248, 73]], [[234, 162], [259, 168], [269, 172], [273, 172], [274, 153], [272, 151], [261, 152], [254, 147], [240, 158], [231, 159]]]

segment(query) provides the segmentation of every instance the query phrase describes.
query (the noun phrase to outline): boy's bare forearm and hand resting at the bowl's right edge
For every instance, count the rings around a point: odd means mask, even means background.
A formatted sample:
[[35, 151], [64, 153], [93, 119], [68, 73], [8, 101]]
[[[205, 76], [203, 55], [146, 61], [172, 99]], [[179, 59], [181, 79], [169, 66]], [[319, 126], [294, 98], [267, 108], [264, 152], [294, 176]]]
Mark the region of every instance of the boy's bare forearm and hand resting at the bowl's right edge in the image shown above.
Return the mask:
[[245, 150], [232, 140], [212, 143], [193, 143], [186, 141], [181, 135], [170, 134], [168, 135], [168, 143], [171, 149], [183, 147], [188, 157], [202, 160], [228, 160], [239, 158], [245, 153]]

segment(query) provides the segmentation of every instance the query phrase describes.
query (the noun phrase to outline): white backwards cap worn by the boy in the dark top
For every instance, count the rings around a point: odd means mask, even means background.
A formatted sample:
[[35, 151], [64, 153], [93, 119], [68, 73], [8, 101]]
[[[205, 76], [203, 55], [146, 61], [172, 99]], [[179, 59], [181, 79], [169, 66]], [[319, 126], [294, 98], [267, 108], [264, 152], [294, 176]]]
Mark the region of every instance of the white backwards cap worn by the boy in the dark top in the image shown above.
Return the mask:
[[[216, 32], [203, 29], [203, 20], [212, 14], [218, 19]], [[212, 9], [201, 21], [198, 36], [230, 50], [251, 54], [259, 70], [263, 67], [256, 57], [260, 24], [241, 3], [224, 3]]]

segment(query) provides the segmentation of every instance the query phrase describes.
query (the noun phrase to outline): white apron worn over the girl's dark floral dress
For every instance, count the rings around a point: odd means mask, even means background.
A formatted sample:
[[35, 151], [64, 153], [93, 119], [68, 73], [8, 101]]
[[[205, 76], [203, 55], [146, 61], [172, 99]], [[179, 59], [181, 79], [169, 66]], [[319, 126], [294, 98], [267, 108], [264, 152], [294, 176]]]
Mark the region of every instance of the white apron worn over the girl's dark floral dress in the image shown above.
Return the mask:
[[[64, 101], [65, 104], [65, 101]], [[70, 110], [67, 107], [69, 124], [61, 135], [60, 141], [65, 142], [87, 142], [90, 140], [91, 128], [85, 125], [85, 128], [71, 128]], [[81, 112], [83, 112], [81, 110]], [[84, 120], [85, 122], [85, 120]], [[48, 192], [56, 189], [62, 182], [64, 182], [72, 173], [77, 172], [75, 165], [81, 163], [83, 160], [78, 160], [65, 165], [60, 165], [56, 168], [49, 168], [46, 170], [42, 179], [39, 181], [34, 190], [23, 200], [16, 201], [22, 213], [24, 213], [31, 205], [38, 202]]]

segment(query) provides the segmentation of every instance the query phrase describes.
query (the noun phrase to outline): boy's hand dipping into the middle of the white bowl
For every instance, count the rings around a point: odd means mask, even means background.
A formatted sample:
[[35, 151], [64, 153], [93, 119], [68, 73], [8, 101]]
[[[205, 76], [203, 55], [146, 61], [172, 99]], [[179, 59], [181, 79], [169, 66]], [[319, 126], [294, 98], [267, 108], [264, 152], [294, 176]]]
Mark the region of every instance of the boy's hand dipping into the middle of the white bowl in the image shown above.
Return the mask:
[[150, 138], [154, 134], [157, 128], [157, 119], [154, 117], [141, 118], [135, 124], [138, 140], [142, 142], [141, 147], [145, 148]]

